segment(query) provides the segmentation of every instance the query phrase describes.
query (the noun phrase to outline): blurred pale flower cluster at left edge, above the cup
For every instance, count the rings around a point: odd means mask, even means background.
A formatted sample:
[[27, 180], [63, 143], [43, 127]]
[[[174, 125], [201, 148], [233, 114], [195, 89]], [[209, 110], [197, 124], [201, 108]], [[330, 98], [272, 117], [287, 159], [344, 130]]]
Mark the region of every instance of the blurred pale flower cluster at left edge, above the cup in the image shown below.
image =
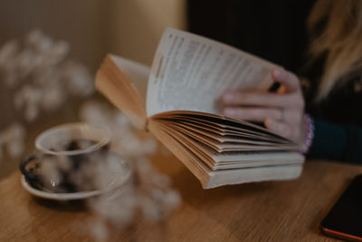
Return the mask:
[[68, 58], [69, 53], [68, 43], [39, 30], [31, 31], [23, 42], [11, 40], [0, 47], [0, 82], [6, 92], [14, 93], [8, 105], [13, 104], [20, 116], [10, 128], [0, 129], [0, 160], [4, 146], [14, 158], [23, 154], [26, 131], [21, 121], [35, 121], [43, 111], [57, 111], [70, 98], [94, 92], [90, 72]]

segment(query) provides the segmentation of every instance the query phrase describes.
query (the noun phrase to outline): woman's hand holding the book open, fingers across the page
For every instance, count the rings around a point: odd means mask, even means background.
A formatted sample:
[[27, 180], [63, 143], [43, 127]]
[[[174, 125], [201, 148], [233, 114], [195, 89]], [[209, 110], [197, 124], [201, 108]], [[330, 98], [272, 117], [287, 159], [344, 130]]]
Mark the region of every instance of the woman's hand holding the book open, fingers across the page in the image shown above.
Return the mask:
[[304, 140], [304, 99], [296, 75], [274, 70], [271, 77], [280, 82], [278, 92], [225, 92], [221, 97], [224, 115], [243, 121], [263, 122], [266, 128], [285, 138]]

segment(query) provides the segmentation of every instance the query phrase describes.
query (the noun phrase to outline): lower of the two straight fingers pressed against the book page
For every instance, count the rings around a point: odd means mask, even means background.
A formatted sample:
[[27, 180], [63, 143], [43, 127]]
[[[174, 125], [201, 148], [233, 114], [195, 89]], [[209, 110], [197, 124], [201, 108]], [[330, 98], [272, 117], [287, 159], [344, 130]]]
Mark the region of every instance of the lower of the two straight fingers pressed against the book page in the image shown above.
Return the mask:
[[243, 121], [265, 121], [268, 118], [281, 120], [282, 113], [280, 109], [269, 108], [233, 108], [224, 109], [224, 115], [233, 119]]

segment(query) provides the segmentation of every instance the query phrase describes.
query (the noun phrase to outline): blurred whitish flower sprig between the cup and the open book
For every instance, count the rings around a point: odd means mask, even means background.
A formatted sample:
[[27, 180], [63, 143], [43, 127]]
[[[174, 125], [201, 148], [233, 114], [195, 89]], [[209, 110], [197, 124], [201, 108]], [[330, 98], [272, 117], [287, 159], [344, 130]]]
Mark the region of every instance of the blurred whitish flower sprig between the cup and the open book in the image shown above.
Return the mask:
[[[125, 186], [89, 200], [90, 208], [99, 216], [91, 223], [94, 238], [104, 240], [109, 236], [108, 223], [127, 227], [141, 218], [157, 222], [179, 207], [181, 198], [172, 189], [171, 180], [154, 169], [148, 160], [148, 155], [158, 150], [154, 138], [139, 139], [125, 114], [100, 102], [84, 103], [80, 116], [83, 121], [108, 127], [112, 133], [111, 149], [134, 164], [134, 176]], [[103, 173], [100, 177], [106, 179], [107, 176]]]

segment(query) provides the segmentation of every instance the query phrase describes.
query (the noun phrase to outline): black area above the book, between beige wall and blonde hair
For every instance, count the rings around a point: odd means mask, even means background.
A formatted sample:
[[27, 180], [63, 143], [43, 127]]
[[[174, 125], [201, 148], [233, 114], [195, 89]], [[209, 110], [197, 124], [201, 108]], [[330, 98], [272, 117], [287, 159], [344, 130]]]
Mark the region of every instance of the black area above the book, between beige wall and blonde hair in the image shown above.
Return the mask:
[[306, 59], [306, 18], [314, 2], [189, 0], [188, 29], [299, 73]]

